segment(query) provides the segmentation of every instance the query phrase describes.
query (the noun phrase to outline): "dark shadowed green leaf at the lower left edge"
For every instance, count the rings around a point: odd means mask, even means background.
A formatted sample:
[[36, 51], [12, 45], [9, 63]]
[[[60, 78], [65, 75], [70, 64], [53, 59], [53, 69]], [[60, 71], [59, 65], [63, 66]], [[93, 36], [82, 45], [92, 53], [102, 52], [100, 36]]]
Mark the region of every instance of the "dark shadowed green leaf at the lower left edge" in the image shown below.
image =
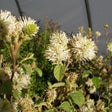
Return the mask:
[[0, 86], [0, 93], [3, 94], [10, 94], [12, 91], [12, 82], [10, 80], [5, 81], [1, 86]]

